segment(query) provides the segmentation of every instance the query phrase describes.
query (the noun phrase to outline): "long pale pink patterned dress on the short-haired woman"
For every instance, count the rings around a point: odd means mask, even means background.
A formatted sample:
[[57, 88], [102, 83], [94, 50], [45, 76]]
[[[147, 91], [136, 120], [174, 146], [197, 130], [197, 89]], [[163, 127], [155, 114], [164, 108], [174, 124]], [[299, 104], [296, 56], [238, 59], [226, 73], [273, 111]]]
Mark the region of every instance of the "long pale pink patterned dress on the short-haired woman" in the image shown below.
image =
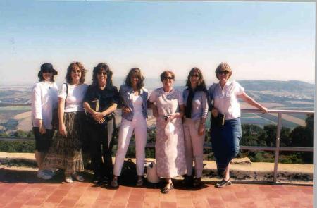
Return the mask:
[[155, 102], [159, 109], [155, 142], [157, 173], [162, 178], [182, 176], [187, 171], [182, 118], [174, 118], [170, 121], [175, 126], [175, 130], [169, 134], [166, 134], [168, 122], [164, 120], [165, 115], [180, 111], [180, 105], [183, 104], [182, 92], [174, 89], [164, 92], [163, 88], [158, 88], [151, 93], [149, 101]]

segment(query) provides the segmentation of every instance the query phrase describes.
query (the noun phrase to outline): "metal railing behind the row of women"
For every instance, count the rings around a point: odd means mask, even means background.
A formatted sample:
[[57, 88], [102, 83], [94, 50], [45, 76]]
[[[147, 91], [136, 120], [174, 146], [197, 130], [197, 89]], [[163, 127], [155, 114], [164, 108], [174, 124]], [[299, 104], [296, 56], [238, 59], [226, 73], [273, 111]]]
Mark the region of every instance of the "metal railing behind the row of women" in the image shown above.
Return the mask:
[[[30, 106], [30, 104], [1, 104], [0, 106]], [[261, 114], [258, 109], [242, 109], [242, 113], [256, 113]], [[274, 157], [274, 173], [273, 173], [273, 183], [276, 183], [278, 177], [278, 158], [280, 151], [291, 151], [291, 152], [313, 152], [313, 147], [280, 147], [280, 132], [282, 129], [282, 114], [314, 114], [314, 111], [297, 111], [297, 110], [268, 110], [268, 113], [278, 114], [278, 125], [276, 130], [276, 146], [275, 147], [259, 147], [259, 146], [240, 146], [242, 150], [254, 150], [254, 151], [272, 151], [275, 152]], [[0, 140], [25, 140], [12, 139], [12, 138], [0, 138]], [[130, 144], [133, 146], [135, 144]], [[148, 143], [147, 147], [155, 147], [154, 143]], [[211, 149], [210, 145], [204, 145], [205, 149]]]

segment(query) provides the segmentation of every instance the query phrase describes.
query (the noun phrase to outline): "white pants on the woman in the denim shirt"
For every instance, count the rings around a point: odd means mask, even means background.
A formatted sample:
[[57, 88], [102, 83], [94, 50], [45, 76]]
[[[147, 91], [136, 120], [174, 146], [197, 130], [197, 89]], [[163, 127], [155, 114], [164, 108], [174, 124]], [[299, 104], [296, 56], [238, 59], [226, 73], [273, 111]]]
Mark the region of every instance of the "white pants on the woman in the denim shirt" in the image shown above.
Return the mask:
[[119, 136], [116, 161], [113, 167], [113, 175], [120, 176], [125, 154], [129, 147], [132, 132], [135, 132], [135, 158], [137, 159], [137, 175], [144, 173], [145, 145], [147, 145], [147, 121], [143, 116], [137, 116], [132, 121], [122, 118]]

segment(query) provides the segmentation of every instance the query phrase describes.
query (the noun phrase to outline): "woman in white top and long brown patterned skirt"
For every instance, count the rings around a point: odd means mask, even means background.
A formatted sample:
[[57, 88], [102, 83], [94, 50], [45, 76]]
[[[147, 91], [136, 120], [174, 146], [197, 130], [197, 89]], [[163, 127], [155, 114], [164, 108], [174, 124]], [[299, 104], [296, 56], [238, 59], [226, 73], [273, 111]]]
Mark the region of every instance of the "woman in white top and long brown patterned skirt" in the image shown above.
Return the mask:
[[82, 101], [88, 87], [85, 74], [80, 62], [70, 63], [67, 68], [66, 83], [58, 95], [59, 130], [44, 159], [44, 166], [64, 170], [66, 183], [84, 181], [77, 172], [84, 171], [81, 135], [85, 118]]

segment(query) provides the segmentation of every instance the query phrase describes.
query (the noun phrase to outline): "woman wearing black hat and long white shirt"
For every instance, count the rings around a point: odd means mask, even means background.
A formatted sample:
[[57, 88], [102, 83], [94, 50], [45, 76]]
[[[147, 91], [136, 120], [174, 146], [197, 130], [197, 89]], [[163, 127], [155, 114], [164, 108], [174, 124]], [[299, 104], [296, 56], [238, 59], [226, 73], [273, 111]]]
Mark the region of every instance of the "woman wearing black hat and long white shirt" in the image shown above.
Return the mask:
[[37, 177], [50, 179], [52, 172], [42, 169], [42, 161], [51, 144], [54, 130], [51, 121], [53, 109], [58, 103], [58, 87], [54, 82], [57, 71], [51, 63], [44, 63], [37, 74], [39, 82], [32, 88], [32, 130], [35, 135], [35, 159], [39, 171]]

